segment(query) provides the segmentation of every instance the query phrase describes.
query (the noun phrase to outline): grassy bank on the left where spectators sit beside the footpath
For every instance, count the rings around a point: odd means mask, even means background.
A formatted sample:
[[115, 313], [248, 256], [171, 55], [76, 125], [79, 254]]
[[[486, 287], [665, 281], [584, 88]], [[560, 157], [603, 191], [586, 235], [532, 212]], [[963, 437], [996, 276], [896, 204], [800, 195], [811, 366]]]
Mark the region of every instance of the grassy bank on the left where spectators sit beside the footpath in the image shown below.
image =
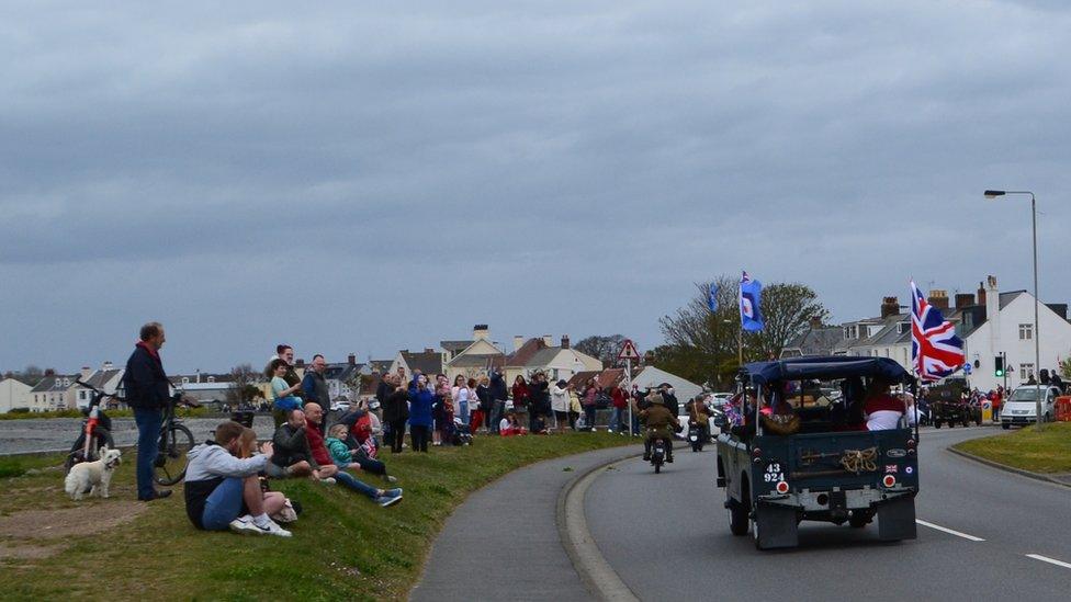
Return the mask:
[[[442, 523], [470, 492], [541, 459], [628, 442], [629, 438], [606, 433], [482, 436], [471, 447], [387, 453], [387, 468], [405, 498], [385, 509], [337, 486], [273, 480], [273, 488], [304, 507], [301, 519], [289, 527], [294, 533], [289, 539], [196, 531], [177, 487], [170, 498], [148, 504], [147, 511], [106, 532], [58, 543], [0, 532], [0, 591], [7, 600], [403, 600]], [[112, 481], [111, 499], [79, 503], [102, 511], [108, 504], [129, 503], [136, 497], [133, 454], [124, 459]], [[0, 463], [22, 470], [22, 476], [0, 479], [0, 516], [16, 509], [61, 512], [78, 507], [63, 492], [61, 470], [25, 473], [61, 462], [63, 456], [53, 455]], [[364, 480], [384, 487], [377, 477]], [[509, 515], [488, 520], [508, 521]], [[4, 548], [43, 545], [58, 547], [41, 558], [2, 554]]]

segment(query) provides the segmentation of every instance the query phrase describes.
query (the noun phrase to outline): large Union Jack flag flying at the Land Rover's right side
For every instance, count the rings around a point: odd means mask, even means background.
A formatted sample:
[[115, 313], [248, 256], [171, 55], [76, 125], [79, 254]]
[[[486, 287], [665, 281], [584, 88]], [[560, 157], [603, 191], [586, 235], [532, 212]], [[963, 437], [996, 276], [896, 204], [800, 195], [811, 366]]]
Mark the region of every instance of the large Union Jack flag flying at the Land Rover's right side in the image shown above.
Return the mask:
[[911, 362], [923, 380], [939, 380], [963, 367], [967, 355], [956, 327], [911, 282]]

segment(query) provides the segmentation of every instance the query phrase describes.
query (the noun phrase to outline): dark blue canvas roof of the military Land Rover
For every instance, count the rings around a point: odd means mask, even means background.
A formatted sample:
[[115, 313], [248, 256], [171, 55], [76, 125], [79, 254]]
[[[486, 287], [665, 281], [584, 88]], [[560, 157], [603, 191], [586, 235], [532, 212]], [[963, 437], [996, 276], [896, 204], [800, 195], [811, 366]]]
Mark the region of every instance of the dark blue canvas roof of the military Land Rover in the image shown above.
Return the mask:
[[846, 378], [848, 376], [882, 377], [893, 383], [912, 382], [911, 374], [889, 357], [849, 357], [828, 355], [791, 357], [777, 362], [753, 362], [744, 366], [753, 385], [775, 380]]

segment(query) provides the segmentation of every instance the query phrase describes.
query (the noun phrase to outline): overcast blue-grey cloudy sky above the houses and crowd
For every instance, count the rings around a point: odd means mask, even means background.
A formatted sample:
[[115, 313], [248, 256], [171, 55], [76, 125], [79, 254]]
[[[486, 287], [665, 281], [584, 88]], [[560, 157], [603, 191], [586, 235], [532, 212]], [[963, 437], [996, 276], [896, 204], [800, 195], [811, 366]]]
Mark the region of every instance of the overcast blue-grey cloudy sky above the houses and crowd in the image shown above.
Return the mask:
[[1066, 2], [4, 2], [0, 370], [641, 349], [746, 269], [1071, 298]]

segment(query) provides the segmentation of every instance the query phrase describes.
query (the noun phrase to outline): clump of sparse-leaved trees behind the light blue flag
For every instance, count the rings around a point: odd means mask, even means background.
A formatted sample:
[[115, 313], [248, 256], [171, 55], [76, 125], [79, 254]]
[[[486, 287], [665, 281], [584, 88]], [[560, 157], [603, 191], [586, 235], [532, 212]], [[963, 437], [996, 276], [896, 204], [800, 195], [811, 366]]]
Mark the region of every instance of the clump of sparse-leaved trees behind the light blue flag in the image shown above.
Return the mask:
[[[717, 287], [715, 311], [707, 300], [711, 287]], [[687, 305], [658, 320], [666, 345], [658, 348], [655, 359], [656, 365], [669, 372], [676, 368], [680, 376], [691, 371], [689, 379], [699, 383], [730, 385], [741, 355], [744, 362], [778, 357], [789, 340], [807, 330], [811, 318], [828, 316], [807, 285], [774, 283], [763, 287], [764, 330], [741, 332], [737, 279], [722, 275], [696, 284], [696, 289]]]

